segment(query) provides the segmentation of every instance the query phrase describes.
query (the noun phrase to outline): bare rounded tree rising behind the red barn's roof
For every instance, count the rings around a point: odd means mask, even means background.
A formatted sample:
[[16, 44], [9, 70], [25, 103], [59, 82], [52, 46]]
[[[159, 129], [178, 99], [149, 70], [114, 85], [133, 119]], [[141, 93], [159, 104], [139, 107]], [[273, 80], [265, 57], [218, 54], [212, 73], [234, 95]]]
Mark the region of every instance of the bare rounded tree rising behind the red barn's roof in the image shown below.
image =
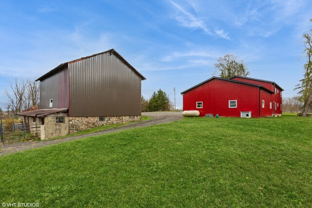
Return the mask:
[[237, 56], [226, 54], [224, 57], [219, 57], [215, 63], [215, 73], [219, 72], [222, 78], [229, 78], [232, 76], [247, 77], [250, 72], [247, 65], [242, 60], [237, 60]]

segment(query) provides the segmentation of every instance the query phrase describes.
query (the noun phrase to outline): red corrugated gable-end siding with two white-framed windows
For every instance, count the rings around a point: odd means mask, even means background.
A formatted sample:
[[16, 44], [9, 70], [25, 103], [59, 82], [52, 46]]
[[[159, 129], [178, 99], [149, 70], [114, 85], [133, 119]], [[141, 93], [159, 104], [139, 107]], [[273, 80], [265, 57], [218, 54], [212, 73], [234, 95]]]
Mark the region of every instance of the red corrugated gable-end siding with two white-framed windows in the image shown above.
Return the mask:
[[[237, 100], [237, 108], [229, 108], [229, 100]], [[203, 108], [196, 108], [196, 102], [203, 102]], [[183, 110], [226, 117], [240, 117], [240, 111], [251, 111], [252, 117], [259, 117], [259, 88], [214, 79], [186, 92]]]

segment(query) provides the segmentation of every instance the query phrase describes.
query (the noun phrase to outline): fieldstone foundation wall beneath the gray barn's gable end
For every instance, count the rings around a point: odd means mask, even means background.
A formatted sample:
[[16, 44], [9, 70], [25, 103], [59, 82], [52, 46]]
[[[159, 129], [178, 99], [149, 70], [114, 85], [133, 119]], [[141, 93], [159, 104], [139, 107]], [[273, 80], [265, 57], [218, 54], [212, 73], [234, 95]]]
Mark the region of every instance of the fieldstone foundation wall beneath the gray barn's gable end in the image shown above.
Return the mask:
[[102, 118], [104, 121], [99, 121], [99, 117], [69, 117], [69, 133], [72, 134], [101, 125], [139, 121], [141, 116], [103, 116]]

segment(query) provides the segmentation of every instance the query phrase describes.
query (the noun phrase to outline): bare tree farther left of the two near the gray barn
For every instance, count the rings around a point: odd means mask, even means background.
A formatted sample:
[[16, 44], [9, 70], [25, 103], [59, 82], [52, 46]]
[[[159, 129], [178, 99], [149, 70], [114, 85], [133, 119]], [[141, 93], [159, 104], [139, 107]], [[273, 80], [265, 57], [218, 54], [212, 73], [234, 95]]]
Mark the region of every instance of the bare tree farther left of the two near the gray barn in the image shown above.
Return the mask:
[[12, 111], [14, 114], [21, 112], [24, 103], [25, 103], [25, 91], [27, 88], [27, 82], [18, 79], [15, 79], [15, 85], [11, 85], [12, 94], [5, 90], [6, 100], [9, 102], [8, 108], [9, 111]]

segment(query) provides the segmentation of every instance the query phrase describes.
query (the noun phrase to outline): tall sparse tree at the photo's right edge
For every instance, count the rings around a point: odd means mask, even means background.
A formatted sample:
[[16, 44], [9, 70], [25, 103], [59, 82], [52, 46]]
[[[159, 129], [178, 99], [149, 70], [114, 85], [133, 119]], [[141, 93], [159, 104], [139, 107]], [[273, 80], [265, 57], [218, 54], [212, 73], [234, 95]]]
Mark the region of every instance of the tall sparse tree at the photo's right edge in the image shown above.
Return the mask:
[[[310, 20], [312, 22], [312, 19]], [[304, 102], [301, 116], [306, 117], [309, 108], [312, 106], [312, 29], [310, 33], [304, 33], [302, 35], [303, 42], [303, 54], [307, 57], [307, 62], [303, 65], [304, 76], [300, 80], [300, 84], [295, 89], [299, 89], [298, 94], [301, 100]]]

